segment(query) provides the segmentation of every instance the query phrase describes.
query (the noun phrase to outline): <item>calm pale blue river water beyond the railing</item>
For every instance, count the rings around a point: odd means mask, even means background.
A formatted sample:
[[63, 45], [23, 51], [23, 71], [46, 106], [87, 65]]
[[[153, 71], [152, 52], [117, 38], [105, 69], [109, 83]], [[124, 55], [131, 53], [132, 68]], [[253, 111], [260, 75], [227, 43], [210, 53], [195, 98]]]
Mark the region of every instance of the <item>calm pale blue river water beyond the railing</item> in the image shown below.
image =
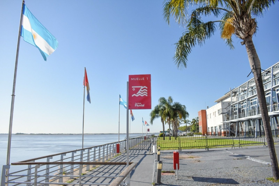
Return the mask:
[[[142, 135], [131, 134], [131, 136]], [[120, 134], [120, 141], [126, 134]], [[86, 134], [83, 148], [118, 141], [118, 134]], [[0, 135], [0, 168], [7, 163], [8, 135]], [[82, 148], [82, 135], [12, 135], [10, 163]], [[0, 176], [1, 181], [1, 176]]]

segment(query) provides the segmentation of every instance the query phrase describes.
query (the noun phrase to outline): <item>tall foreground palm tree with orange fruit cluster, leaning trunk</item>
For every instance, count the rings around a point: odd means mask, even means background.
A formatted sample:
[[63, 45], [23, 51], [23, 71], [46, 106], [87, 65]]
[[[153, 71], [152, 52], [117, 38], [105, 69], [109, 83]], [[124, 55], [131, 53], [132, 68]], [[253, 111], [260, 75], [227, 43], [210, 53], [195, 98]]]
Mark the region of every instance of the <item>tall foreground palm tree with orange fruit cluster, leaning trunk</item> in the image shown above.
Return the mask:
[[[262, 114], [263, 128], [267, 138], [269, 154], [272, 162], [272, 173], [275, 180], [279, 179], [279, 167], [269, 125], [268, 109], [265, 100], [261, 64], [257, 55], [252, 37], [256, 33], [256, 18], [263, 16], [263, 12], [274, 4], [275, 0], [166, 0], [164, 5], [164, 18], [169, 24], [170, 16], [174, 15], [178, 24], [186, 26], [182, 37], [176, 43], [174, 56], [178, 68], [187, 67], [187, 57], [193, 47], [201, 46], [216, 31], [219, 22], [221, 38], [233, 49], [232, 35], [241, 39], [245, 45], [252, 73], [254, 74], [259, 107]], [[197, 6], [187, 19], [188, 5]], [[204, 23], [201, 16], [212, 18], [221, 17], [220, 20]]]

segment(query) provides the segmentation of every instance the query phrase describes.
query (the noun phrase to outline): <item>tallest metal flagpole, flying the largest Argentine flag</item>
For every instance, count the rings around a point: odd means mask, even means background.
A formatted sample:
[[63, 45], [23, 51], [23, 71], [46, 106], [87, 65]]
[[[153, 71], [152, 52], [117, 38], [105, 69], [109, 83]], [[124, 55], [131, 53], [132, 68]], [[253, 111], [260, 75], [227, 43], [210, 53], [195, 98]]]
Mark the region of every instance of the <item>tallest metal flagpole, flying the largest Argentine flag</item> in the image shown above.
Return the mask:
[[[11, 99], [11, 113], [10, 113], [10, 125], [9, 125], [9, 135], [8, 135], [8, 149], [7, 149], [7, 165], [10, 165], [10, 155], [11, 155], [11, 132], [12, 132], [12, 125], [13, 125], [13, 114], [14, 114], [14, 104], [15, 104], [15, 80], [16, 80], [16, 72], [17, 72], [17, 62], [18, 62], [18, 53], [19, 53], [19, 46], [20, 46], [20, 32], [21, 32], [21, 24], [22, 24], [22, 14], [23, 14], [23, 6], [24, 1], [22, 1], [21, 7], [21, 14], [20, 14], [20, 26], [18, 31], [18, 38], [17, 38], [17, 48], [16, 48], [16, 55], [15, 55], [15, 73], [14, 73], [14, 82], [13, 82], [13, 92], [12, 92], [12, 99]], [[6, 175], [9, 175], [9, 168], [6, 169]], [[9, 177], [6, 176], [6, 181], [9, 180]], [[6, 184], [8, 185], [8, 184]]]

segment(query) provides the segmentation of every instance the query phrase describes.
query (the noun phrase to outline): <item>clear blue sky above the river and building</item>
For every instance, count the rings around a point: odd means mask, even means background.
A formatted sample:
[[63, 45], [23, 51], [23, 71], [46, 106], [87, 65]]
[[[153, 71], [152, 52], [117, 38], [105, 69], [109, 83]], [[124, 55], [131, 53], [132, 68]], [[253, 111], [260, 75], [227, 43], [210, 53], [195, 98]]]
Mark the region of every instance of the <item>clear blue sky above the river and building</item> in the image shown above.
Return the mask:
[[[0, 133], [9, 131], [21, 5], [21, 0], [1, 1]], [[91, 96], [91, 104], [85, 101], [84, 133], [118, 133], [119, 95], [127, 100], [129, 75], [151, 74], [152, 109], [160, 97], [172, 96], [186, 106], [189, 120], [230, 88], [253, 78], [247, 78], [251, 69], [241, 40], [234, 38], [235, 49], [230, 50], [218, 30], [193, 48], [187, 69], [177, 69], [172, 59], [175, 42], [185, 29], [173, 18], [170, 25], [165, 22], [163, 0], [26, 0], [25, 5], [59, 44], [44, 61], [36, 47], [20, 39], [13, 134], [81, 134], [84, 67]], [[279, 61], [278, 8], [276, 2], [257, 19], [253, 42], [262, 69]], [[142, 118], [149, 123], [150, 112], [133, 110], [131, 133], [142, 133]], [[162, 131], [160, 119], [148, 128], [150, 133]], [[120, 133], [126, 133], [122, 105]]]

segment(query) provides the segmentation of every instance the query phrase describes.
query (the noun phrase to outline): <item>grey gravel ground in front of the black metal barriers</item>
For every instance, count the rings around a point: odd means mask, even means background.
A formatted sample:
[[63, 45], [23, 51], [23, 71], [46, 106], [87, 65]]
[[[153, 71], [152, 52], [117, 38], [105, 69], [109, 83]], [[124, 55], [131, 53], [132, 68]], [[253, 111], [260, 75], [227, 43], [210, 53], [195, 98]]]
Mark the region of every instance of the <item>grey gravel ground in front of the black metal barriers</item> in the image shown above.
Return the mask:
[[[253, 150], [257, 158], [257, 151], [261, 149], [250, 148], [247, 153]], [[243, 153], [243, 149], [240, 150]], [[173, 152], [161, 152], [162, 171], [173, 171], [172, 157]], [[179, 179], [174, 175], [162, 175], [161, 185], [279, 185], [266, 179], [272, 177], [270, 165], [248, 160], [245, 154], [238, 155], [237, 151], [230, 153], [230, 149], [179, 152], [179, 164]], [[155, 180], [156, 177], [157, 169]]]

